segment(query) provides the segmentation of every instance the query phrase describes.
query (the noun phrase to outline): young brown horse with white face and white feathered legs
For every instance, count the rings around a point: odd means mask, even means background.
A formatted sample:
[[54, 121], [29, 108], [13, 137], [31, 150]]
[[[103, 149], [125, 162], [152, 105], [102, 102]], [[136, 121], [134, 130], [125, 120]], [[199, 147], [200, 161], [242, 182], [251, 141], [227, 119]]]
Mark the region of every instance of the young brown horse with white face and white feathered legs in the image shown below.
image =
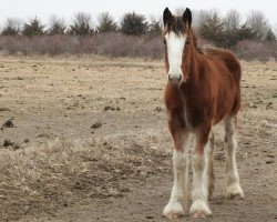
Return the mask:
[[163, 214], [170, 219], [185, 214], [189, 164], [187, 142], [193, 133], [193, 203], [189, 214], [192, 218], [206, 218], [212, 214], [208, 200], [214, 190], [213, 127], [220, 121], [225, 125], [226, 196], [244, 198], [235, 157], [242, 69], [232, 51], [216, 48], [204, 51], [198, 47], [188, 8], [181, 17], [166, 8], [163, 22], [168, 75], [164, 102], [174, 143], [174, 183]]

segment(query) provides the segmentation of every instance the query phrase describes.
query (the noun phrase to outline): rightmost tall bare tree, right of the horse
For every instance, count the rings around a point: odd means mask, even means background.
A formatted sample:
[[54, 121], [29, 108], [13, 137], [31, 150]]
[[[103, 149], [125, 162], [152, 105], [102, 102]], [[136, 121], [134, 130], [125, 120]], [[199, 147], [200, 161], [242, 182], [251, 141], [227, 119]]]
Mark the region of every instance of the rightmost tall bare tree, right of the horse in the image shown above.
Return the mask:
[[268, 20], [261, 11], [250, 11], [246, 19], [246, 26], [253, 30], [255, 40], [264, 40], [270, 29]]

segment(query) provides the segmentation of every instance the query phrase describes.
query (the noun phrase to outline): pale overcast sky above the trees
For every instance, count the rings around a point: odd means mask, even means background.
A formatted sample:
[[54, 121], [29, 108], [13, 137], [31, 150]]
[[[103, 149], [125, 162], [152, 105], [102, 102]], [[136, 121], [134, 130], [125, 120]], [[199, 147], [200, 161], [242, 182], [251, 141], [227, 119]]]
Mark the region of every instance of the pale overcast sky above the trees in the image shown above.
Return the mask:
[[244, 17], [250, 10], [260, 10], [271, 24], [277, 24], [276, 0], [1, 0], [0, 26], [10, 17], [28, 20], [37, 16], [47, 23], [51, 14], [63, 17], [70, 22], [79, 11], [91, 13], [94, 21], [101, 12], [110, 12], [117, 21], [124, 12], [130, 11], [161, 17], [165, 7], [172, 11], [186, 7], [196, 10], [216, 9], [222, 14], [236, 9]]

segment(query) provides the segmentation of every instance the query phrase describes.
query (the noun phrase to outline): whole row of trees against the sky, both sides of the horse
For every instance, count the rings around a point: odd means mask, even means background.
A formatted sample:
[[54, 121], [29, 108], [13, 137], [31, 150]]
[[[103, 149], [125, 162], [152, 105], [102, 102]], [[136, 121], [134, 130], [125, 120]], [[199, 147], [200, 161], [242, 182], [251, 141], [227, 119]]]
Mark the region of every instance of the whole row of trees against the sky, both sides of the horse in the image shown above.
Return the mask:
[[[178, 10], [182, 12], [183, 10]], [[239, 41], [254, 40], [274, 42], [276, 36], [265, 14], [260, 11], [250, 11], [243, 22], [242, 14], [230, 10], [225, 17], [216, 10], [195, 11], [193, 24], [195, 32], [204, 40], [216, 47], [233, 48]], [[103, 12], [98, 17], [98, 24], [93, 26], [90, 13], [75, 13], [72, 22], [68, 26], [63, 18], [52, 16], [49, 26], [34, 17], [29, 21], [21, 22], [19, 19], [8, 18], [4, 22], [2, 36], [54, 36], [70, 34], [76, 37], [94, 36], [98, 33], [121, 32], [135, 37], [157, 37], [162, 33], [162, 19], [152, 17], [150, 20], [144, 14], [129, 12], [123, 14], [120, 22], [109, 13]]]

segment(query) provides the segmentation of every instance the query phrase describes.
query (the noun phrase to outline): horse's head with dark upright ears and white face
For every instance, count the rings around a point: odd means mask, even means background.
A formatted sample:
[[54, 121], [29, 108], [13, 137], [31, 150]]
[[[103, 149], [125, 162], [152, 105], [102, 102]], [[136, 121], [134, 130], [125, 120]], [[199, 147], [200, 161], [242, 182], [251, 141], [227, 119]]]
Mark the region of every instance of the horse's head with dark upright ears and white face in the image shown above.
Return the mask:
[[182, 17], [176, 17], [166, 8], [163, 20], [165, 67], [168, 73], [168, 81], [174, 85], [179, 85], [188, 78], [187, 58], [191, 53], [192, 12], [189, 9], [186, 9]]

